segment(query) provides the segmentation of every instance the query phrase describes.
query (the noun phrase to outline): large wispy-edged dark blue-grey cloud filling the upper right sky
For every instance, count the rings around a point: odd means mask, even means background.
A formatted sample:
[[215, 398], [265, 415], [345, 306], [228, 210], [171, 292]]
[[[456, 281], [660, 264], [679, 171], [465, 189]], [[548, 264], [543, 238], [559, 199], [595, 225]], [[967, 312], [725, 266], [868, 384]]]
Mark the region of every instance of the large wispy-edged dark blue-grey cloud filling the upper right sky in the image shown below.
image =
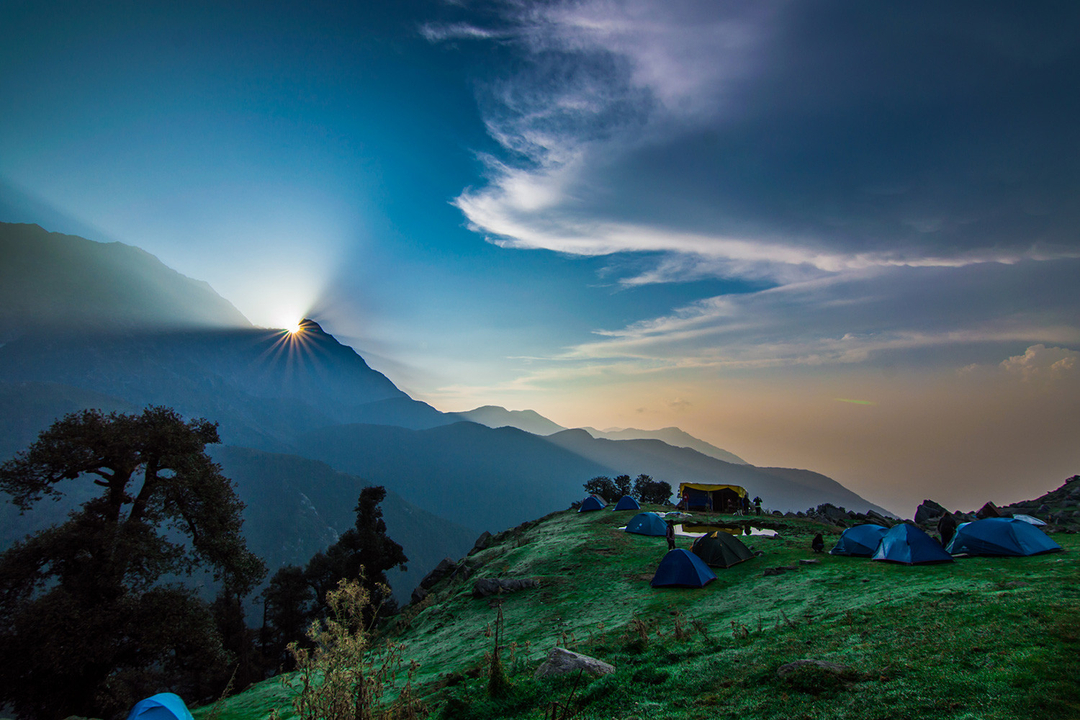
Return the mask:
[[455, 204], [501, 246], [659, 254], [625, 285], [1080, 255], [1068, 18], [828, 2], [495, 8], [492, 29], [469, 32], [521, 60], [480, 84], [507, 154], [484, 157], [487, 182]]

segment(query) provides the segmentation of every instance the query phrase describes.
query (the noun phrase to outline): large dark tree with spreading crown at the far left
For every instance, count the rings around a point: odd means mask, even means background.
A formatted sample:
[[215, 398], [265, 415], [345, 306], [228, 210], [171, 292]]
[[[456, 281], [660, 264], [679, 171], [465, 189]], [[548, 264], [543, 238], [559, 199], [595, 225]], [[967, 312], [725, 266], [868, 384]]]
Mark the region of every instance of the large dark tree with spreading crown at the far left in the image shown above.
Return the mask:
[[[206, 602], [165, 575], [208, 570], [233, 595], [265, 574], [243, 504], [205, 446], [217, 424], [174, 410], [66, 416], [0, 465], [25, 513], [100, 488], [0, 556], [0, 703], [17, 716], [109, 717], [168, 688], [205, 696], [227, 661]], [[92, 484], [92, 485], [91, 485]]]

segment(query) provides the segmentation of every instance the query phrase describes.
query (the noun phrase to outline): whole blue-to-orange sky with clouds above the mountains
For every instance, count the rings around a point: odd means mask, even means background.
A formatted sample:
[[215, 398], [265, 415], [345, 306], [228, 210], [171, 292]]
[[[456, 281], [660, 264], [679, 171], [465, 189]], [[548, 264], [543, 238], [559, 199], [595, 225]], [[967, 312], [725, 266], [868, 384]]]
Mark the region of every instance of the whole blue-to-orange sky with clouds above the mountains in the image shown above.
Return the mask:
[[[442, 410], [908, 515], [1080, 473], [1080, 5], [0, 1], [0, 220]], [[626, 468], [633, 474], [633, 468]]]

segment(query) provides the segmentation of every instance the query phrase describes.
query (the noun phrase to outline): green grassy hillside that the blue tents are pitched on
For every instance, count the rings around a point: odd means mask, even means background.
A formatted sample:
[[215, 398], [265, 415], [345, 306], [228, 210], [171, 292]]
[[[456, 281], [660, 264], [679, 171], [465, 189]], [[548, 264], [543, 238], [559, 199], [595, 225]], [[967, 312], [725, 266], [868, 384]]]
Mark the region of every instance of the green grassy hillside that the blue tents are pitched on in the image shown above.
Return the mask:
[[[662, 538], [619, 532], [626, 513], [557, 513], [470, 558], [469, 581], [444, 582], [435, 600], [396, 628], [429, 704], [447, 718], [540, 718], [572, 680], [532, 680], [554, 644], [617, 667], [577, 690], [579, 718], [1075, 718], [1080, 716], [1080, 536], [1064, 554], [970, 558], [904, 567], [819, 556], [821, 528], [784, 521], [779, 538], [748, 539], [764, 557], [717, 570], [704, 589], [652, 589]], [[689, 546], [689, 539], [679, 539]], [[513, 691], [484, 691], [495, 601], [472, 580], [534, 576], [541, 587], [502, 598]], [[415, 611], [414, 611], [415, 612]], [[676, 614], [680, 613], [680, 614]], [[649, 628], [642, 647], [633, 620]], [[691, 629], [675, 637], [676, 619]], [[707, 635], [692, 630], [699, 621]], [[848, 665], [842, 682], [810, 674], [781, 680], [795, 660]], [[227, 701], [222, 720], [287, 709], [276, 680]], [[195, 712], [206, 716], [206, 709]], [[292, 717], [291, 712], [282, 717]]]

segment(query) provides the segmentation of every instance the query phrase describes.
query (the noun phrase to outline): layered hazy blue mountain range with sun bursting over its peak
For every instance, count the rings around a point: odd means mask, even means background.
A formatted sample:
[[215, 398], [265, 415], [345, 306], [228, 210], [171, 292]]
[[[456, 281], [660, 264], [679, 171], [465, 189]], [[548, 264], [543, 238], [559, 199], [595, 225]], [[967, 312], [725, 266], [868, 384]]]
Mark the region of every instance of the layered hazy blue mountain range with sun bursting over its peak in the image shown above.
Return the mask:
[[[384, 512], [410, 558], [399, 596], [481, 530], [564, 508], [596, 475], [738, 483], [777, 510], [882, 512], [827, 477], [754, 467], [674, 427], [566, 430], [498, 407], [440, 412], [318, 323], [296, 335], [255, 328], [205, 283], [119, 243], [0, 223], [0, 298], [10, 301], [0, 316], [0, 459], [81, 408], [167, 405], [217, 421], [225, 445], [214, 456], [271, 569], [348, 528], [364, 483], [396, 493]], [[43, 503], [15, 520], [10, 508], [0, 508], [3, 547], [64, 516]]]

